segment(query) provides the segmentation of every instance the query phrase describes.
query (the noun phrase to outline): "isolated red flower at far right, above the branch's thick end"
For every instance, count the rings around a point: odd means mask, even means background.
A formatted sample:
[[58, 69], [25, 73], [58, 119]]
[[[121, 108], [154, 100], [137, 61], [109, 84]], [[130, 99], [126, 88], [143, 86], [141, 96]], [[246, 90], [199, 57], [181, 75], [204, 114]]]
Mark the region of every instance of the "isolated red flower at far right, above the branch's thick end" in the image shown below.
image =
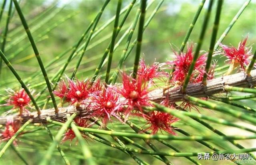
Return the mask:
[[252, 47], [246, 47], [246, 41], [248, 37], [246, 37], [244, 40], [242, 40], [238, 44], [238, 48], [235, 47], [228, 47], [227, 45], [222, 45], [222, 49], [224, 50], [224, 55], [228, 57], [228, 59], [231, 61], [231, 63], [235, 66], [240, 67], [244, 70], [244, 65], [248, 65], [250, 63], [249, 57], [252, 55]]

